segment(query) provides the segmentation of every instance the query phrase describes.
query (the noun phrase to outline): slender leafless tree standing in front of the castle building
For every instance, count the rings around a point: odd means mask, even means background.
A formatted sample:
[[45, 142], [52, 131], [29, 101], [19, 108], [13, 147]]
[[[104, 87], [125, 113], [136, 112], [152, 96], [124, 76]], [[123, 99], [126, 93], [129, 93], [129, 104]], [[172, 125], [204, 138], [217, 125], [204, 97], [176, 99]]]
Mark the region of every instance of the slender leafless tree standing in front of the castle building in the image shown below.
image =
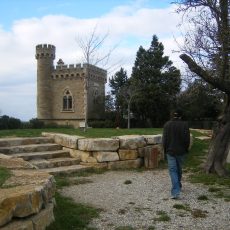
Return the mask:
[[[106, 39], [109, 36], [109, 33], [103, 35], [98, 35], [97, 26], [93, 28], [93, 31], [89, 33], [86, 37], [80, 36], [76, 39], [78, 46], [80, 47], [83, 54], [83, 62], [87, 66], [95, 65], [100, 66], [103, 69], [108, 69], [108, 62], [112, 52], [115, 50], [116, 46], [113, 46], [111, 49], [103, 52], [103, 45], [105, 44]], [[111, 68], [111, 67], [110, 67]], [[85, 113], [85, 127], [86, 131], [88, 127], [88, 78], [89, 72], [86, 68], [86, 76], [84, 79], [84, 113]]]

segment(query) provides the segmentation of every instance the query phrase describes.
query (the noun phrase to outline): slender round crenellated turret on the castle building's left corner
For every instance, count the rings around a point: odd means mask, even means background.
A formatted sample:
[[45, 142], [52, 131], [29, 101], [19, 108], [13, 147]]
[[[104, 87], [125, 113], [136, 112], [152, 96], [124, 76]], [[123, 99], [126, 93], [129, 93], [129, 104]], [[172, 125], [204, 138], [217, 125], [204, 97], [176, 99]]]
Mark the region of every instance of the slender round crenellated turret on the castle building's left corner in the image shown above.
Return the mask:
[[55, 59], [55, 46], [37, 45], [37, 118], [52, 119], [51, 74]]

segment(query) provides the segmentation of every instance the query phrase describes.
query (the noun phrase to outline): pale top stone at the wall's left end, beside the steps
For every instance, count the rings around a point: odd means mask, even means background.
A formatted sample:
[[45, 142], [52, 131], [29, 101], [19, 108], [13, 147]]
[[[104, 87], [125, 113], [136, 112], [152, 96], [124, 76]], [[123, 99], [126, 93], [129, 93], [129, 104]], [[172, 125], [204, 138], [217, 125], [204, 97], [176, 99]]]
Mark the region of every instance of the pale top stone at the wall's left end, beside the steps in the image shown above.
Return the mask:
[[68, 135], [62, 133], [48, 133], [43, 132], [42, 136], [52, 137], [56, 144], [62, 145], [67, 148], [77, 149], [78, 148], [78, 140], [85, 138], [82, 136]]

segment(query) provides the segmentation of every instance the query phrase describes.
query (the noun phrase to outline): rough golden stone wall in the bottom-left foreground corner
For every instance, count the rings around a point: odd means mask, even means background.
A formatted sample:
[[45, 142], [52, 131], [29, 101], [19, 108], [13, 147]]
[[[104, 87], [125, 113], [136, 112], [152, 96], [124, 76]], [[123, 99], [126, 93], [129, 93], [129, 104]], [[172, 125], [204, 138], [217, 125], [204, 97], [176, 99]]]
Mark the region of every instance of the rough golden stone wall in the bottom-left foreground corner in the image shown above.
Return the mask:
[[0, 189], [0, 229], [45, 230], [54, 221], [54, 177], [4, 154], [0, 166], [11, 170]]

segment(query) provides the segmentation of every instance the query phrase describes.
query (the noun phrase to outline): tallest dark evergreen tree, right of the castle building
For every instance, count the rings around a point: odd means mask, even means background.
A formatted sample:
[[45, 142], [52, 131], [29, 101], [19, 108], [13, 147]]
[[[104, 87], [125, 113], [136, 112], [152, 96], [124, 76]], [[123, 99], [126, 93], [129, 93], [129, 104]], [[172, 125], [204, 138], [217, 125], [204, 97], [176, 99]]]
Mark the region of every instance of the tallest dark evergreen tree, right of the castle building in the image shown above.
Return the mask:
[[180, 91], [181, 78], [180, 71], [168, 56], [164, 56], [164, 46], [156, 35], [148, 50], [142, 46], [139, 48], [131, 82], [139, 88], [132, 111], [141, 126], [162, 126]]

